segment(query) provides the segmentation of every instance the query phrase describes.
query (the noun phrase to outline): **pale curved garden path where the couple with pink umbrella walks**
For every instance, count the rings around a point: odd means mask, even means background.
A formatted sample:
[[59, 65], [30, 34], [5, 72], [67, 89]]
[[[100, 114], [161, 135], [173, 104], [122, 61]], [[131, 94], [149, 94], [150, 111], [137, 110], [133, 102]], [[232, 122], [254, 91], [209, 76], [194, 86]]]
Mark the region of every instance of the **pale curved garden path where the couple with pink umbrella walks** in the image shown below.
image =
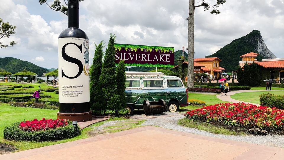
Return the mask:
[[[228, 102], [233, 102], [233, 103], [250, 103], [250, 102], [244, 102], [244, 101], [240, 101], [240, 100], [235, 100], [233, 98], [231, 98], [231, 95], [234, 95], [236, 93], [244, 93], [244, 92], [263, 92], [265, 90], [240, 90], [240, 91], [231, 91], [228, 92], [227, 96], [225, 96], [225, 94], [223, 94], [223, 96], [221, 96], [221, 94], [217, 95], [216, 97], [219, 98], [222, 101], [228, 101]], [[284, 90], [273, 90], [273, 91], [284, 91]], [[256, 103], [250, 103], [253, 105], [259, 105]]]

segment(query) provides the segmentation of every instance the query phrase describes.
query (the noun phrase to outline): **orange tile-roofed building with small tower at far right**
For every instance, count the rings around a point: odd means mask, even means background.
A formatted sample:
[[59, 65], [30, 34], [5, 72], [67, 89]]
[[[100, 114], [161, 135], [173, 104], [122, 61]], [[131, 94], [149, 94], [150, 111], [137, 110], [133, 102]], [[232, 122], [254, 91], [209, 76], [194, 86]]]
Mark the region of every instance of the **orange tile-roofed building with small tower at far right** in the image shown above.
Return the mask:
[[258, 65], [261, 80], [273, 79], [276, 82], [282, 82], [284, 80], [284, 58], [274, 58], [274, 59], [263, 59], [262, 62], [257, 61], [255, 57], [259, 55], [254, 52], [250, 52], [240, 56], [242, 61], [240, 61], [240, 66], [248, 63], [256, 63]]

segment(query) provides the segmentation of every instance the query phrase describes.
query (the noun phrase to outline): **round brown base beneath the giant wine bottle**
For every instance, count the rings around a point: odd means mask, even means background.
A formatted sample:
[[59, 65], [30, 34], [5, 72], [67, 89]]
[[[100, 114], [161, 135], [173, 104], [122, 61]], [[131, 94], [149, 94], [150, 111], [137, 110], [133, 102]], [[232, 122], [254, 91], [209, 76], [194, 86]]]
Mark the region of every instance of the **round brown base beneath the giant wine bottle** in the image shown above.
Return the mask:
[[58, 119], [68, 119], [70, 121], [89, 121], [92, 119], [92, 111], [84, 113], [59, 113], [57, 112]]

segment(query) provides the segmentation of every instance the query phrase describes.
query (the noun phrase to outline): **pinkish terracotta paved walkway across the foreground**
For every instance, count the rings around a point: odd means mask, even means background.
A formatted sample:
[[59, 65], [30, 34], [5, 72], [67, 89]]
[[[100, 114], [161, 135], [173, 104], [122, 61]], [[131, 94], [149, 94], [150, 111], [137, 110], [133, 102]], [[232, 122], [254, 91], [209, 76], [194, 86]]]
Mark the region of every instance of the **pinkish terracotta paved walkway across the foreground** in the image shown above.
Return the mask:
[[139, 127], [1, 155], [6, 159], [283, 159], [284, 149], [164, 129]]

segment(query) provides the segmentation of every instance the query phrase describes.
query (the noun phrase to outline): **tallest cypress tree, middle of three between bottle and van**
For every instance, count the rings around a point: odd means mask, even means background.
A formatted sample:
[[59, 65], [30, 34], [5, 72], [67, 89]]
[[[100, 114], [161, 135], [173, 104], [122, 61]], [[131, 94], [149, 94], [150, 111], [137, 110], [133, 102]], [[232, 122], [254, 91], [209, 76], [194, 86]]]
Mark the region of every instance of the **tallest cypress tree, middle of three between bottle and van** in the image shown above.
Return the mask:
[[115, 68], [115, 36], [110, 34], [104, 56], [104, 63], [100, 75], [101, 99], [100, 104], [103, 110], [116, 110], [120, 106], [120, 96], [117, 94], [116, 68]]

